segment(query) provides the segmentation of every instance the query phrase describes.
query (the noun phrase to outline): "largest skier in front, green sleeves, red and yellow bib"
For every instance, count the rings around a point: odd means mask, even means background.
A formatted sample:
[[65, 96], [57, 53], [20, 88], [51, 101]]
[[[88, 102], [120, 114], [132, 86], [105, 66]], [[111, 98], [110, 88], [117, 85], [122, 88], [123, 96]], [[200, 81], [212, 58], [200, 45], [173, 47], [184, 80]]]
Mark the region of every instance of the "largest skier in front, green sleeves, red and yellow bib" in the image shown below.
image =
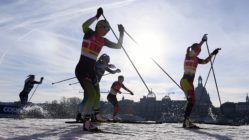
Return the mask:
[[95, 74], [96, 59], [103, 46], [120, 49], [124, 35], [124, 27], [118, 25], [120, 32], [118, 43], [113, 43], [104, 38], [103, 36], [105, 36], [110, 30], [110, 25], [107, 20], [99, 20], [95, 26], [95, 31], [92, 30], [90, 25], [99, 19], [102, 14], [103, 9], [99, 8], [96, 16], [83, 23], [82, 28], [85, 35], [83, 37], [80, 60], [75, 68], [76, 78], [79, 80], [80, 85], [84, 90], [84, 98], [82, 100], [83, 105], [80, 109], [84, 114], [83, 129], [88, 131], [97, 129], [90, 120], [94, 100], [97, 96], [96, 90], [98, 89], [98, 78]]

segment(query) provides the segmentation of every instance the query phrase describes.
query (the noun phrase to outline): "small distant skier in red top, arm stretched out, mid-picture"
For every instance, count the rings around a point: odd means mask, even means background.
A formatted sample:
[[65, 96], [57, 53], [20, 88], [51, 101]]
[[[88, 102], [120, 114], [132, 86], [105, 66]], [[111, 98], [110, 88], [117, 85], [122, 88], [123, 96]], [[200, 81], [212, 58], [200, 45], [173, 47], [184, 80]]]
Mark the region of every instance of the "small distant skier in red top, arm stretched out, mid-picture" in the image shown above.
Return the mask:
[[122, 93], [120, 91], [121, 88], [125, 89], [126, 91], [130, 92], [131, 95], [134, 95], [132, 91], [130, 91], [128, 88], [126, 88], [123, 85], [124, 82], [124, 76], [120, 75], [118, 76], [118, 81], [115, 81], [110, 89], [110, 92], [107, 96], [107, 100], [113, 105], [113, 120], [118, 120], [118, 118], [116, 118], [116, 115], [118, 113], [118, 100], [117, 100], [117, 93]]

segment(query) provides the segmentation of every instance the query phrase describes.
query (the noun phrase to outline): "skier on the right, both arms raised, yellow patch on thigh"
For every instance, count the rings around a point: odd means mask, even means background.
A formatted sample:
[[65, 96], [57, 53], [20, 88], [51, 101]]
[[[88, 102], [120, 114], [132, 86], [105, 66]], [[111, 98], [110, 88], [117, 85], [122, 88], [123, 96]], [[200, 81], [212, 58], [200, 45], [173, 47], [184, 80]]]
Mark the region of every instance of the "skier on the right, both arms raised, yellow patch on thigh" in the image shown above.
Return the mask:
[[184, 75], [180, 81], [181, 87], [187, 98], [187, 106], [185, 109], [183, 127], [188, 128], [197, 128], [190, 121], [190, 114], [192, 112], [192, 108], [195, 104], [195, 91], [194, 91], [194, 78], [195, 72], [198, 64], [206, 64], [211, 61], [212, 56], [218, 54], [220, 48], [215, 49], [206, 59], [200, 59], [198, 55], [201, 52], [202, 44], [207, 41], [207, 34], [203, 35], [200, 43], [194, 43], [192, 46], [187, 48], [186, 56], [184, 60]]

